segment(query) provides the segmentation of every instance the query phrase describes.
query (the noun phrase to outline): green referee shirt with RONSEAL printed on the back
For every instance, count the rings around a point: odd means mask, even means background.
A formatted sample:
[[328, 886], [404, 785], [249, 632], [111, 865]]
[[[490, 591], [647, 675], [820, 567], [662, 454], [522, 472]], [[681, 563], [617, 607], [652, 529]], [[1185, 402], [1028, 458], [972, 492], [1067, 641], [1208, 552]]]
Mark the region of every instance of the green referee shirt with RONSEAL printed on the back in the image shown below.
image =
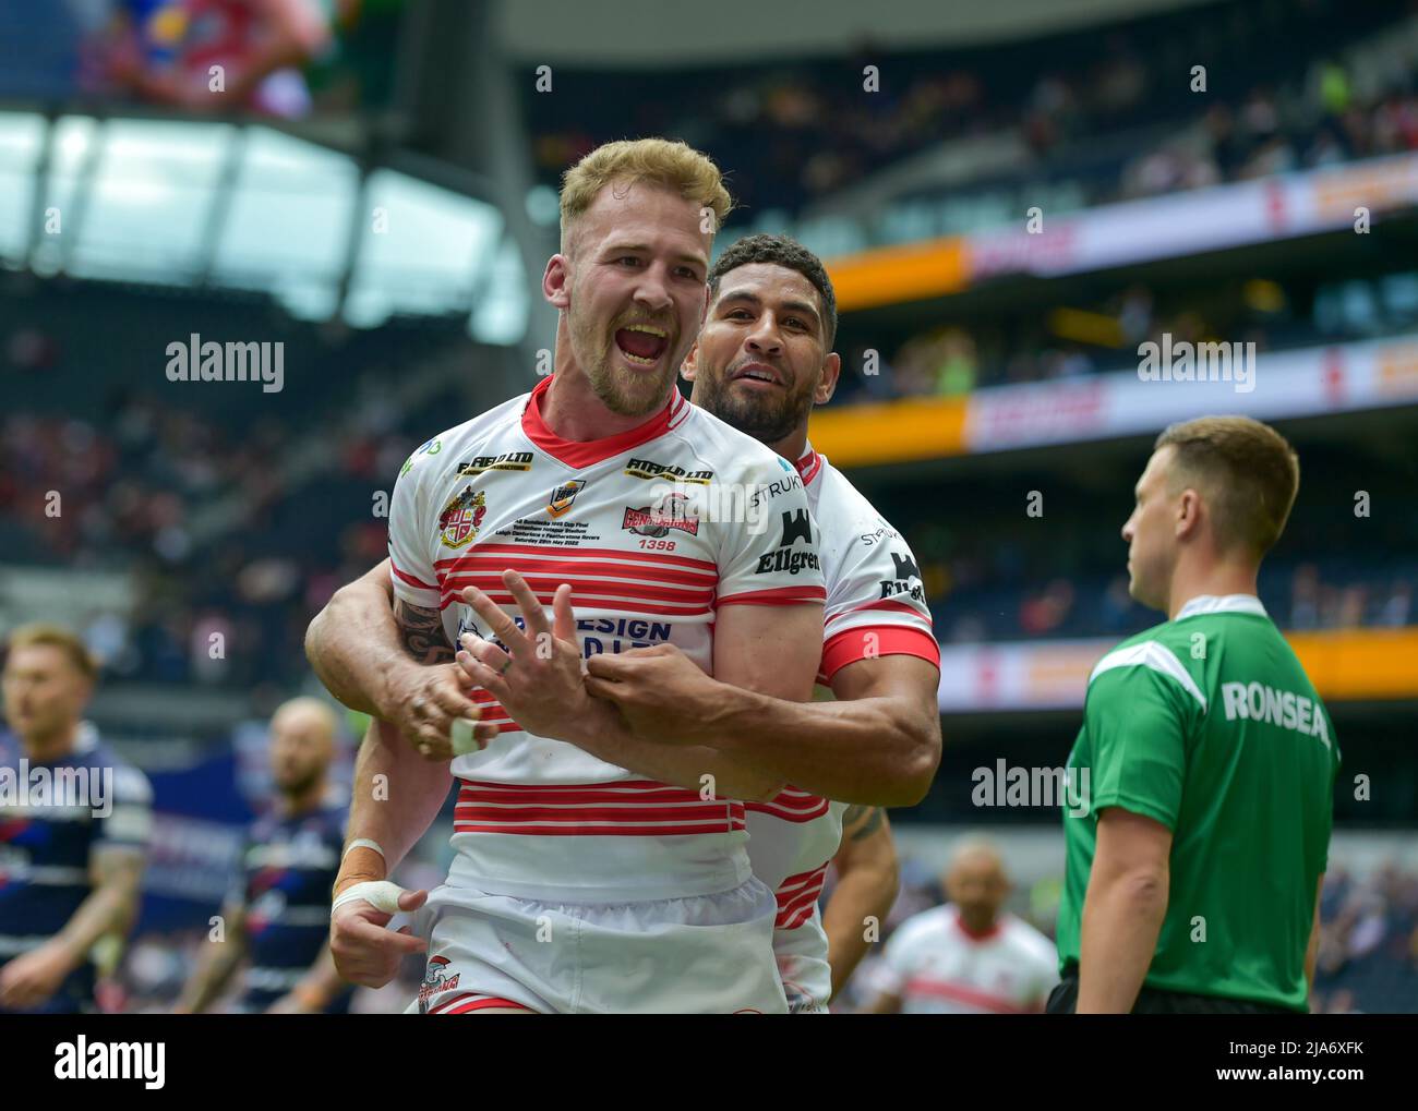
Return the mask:
[[1059, 965], [1076, 964], [1098, 812], [1171, 830], [1167, 917], [1146, 985], [1306, 1010], [1339, 744], [1295, 652], [1248, 594], [1193, 598], [1088, 680], [1064, 809]]

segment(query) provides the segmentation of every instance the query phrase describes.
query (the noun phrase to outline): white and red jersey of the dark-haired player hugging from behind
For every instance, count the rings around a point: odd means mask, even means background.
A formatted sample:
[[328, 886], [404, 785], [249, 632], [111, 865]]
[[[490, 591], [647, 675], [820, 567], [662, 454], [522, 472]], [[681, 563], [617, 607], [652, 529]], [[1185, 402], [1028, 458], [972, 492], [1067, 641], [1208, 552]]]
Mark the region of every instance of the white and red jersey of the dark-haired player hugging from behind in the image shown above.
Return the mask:
[[[817, 696], [831, 699], [832, 677], [872, 656], [919, 656], [939, 667], [920, 570], [900, 533], [811, 445], [797, 472], [821, 533], [827, 582]], [[842, 840], [847, 806], [788, 786], [771, 802], [747, 803], [747, 811], [753, 874], [778, 900], [773, 945], [790, 1002], [794, 989], [825, 1002], [831, 972], [817, 900]]]

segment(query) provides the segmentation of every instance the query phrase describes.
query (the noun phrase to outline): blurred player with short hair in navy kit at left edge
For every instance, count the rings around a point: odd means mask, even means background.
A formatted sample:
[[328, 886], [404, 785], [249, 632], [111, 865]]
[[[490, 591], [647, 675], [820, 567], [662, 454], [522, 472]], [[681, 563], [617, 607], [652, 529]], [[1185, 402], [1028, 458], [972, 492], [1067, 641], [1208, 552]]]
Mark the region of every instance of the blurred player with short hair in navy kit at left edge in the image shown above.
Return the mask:
[[10, 635], [0, 774], [26, 796], [0, 798], [0, 1013], [94, 1010], [91, 951], [138, 920], [152, 788], [82, 720], [96, 680], [68, 629]]

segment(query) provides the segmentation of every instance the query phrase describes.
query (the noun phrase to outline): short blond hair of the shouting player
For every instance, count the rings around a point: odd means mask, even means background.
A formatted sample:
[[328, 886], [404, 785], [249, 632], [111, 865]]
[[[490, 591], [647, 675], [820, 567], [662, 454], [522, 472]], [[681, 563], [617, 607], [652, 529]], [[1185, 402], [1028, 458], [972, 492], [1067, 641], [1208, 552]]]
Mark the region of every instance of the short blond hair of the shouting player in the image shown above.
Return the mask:
[[723, 187], [719, 167], [688, 143], [620, 139], [596, 147], [562, 176], [562, 249], [567, 251], [571, 227], [605, 186], [615, 183], [630, 188], [638, 181], [674, 190], [700, 211], [710, 210], [715, 231], [723, 227], [733, 208], [733, 198]]

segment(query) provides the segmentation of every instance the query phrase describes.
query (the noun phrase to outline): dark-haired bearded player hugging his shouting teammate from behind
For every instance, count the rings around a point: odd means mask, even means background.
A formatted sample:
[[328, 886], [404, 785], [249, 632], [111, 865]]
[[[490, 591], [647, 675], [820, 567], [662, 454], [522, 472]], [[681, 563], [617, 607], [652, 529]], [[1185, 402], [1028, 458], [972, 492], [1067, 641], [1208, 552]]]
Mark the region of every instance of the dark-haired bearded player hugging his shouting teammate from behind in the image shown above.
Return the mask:
[[[905, 541], [807, 442], [813, 404], [831, 397], [839, 368], [831, 354], [835, 299], [820, 261], [786, 237], [754, 235], [730, 247], [709, 281], [709, 317], [685, 376], [695, 383], [695, 404], [797, 463], [791, 480], [805, 485], [824, 533], [828, 605], [818, 680], [828, 697], [844, 701], [800, 706], [747, 692], [739, 697], [672, 648], [594, 655], [588, 683], [615, 700], [642, 744], [654, 747], [632, 750], [617, 741], [614, 751], [603, 752], [607, 758], [640, 768], [647, 757], [674, 755], [692, 774], [695, 762], [685, 762], [692, 748], [683, 744], [699, 738], [798, 785], [749, 803], [749, 855], [754, 874], [777, 897], [774, 951], [790, 1005], [822, 1012], [866, 949], [864, 920], [885, 917], [896, 894], [895, 849], [881, 806], [919, 801], [934, 772], [939, 652]], [[665, 478], [654, 459], [638, 459], [631, 469], [645, 479]], [[350, 641], [332, 638], [319, 653], [328, 659], [312, 653], [322, 675], [357, 672], [372, 686], [380, 682], [379, 663], [394, 628], [379, 574], [376, 568], [346, 587], [322, 618], [332, 628], [362, 629]], [[488, 599], [472, 591], [469, 599], [485, 624], [505, 621]], [[527, 626], [539, 619], [536, 608], [525, 615]], [[474, 682], [515, 697], [493, 673], [498, 649], [474, 649], [479, 659], [461, 656]], [[523, 675], [520, 682], [530, 680]], [[451, 713], [459, 707], [454, 701]], [[447, 740], [427, 724], [415, 743], [434, 757], [448, 755]], [[828, 802], [827, 795], [856, 805]], [[818, 911], [830, 860], [838, 886]]]

